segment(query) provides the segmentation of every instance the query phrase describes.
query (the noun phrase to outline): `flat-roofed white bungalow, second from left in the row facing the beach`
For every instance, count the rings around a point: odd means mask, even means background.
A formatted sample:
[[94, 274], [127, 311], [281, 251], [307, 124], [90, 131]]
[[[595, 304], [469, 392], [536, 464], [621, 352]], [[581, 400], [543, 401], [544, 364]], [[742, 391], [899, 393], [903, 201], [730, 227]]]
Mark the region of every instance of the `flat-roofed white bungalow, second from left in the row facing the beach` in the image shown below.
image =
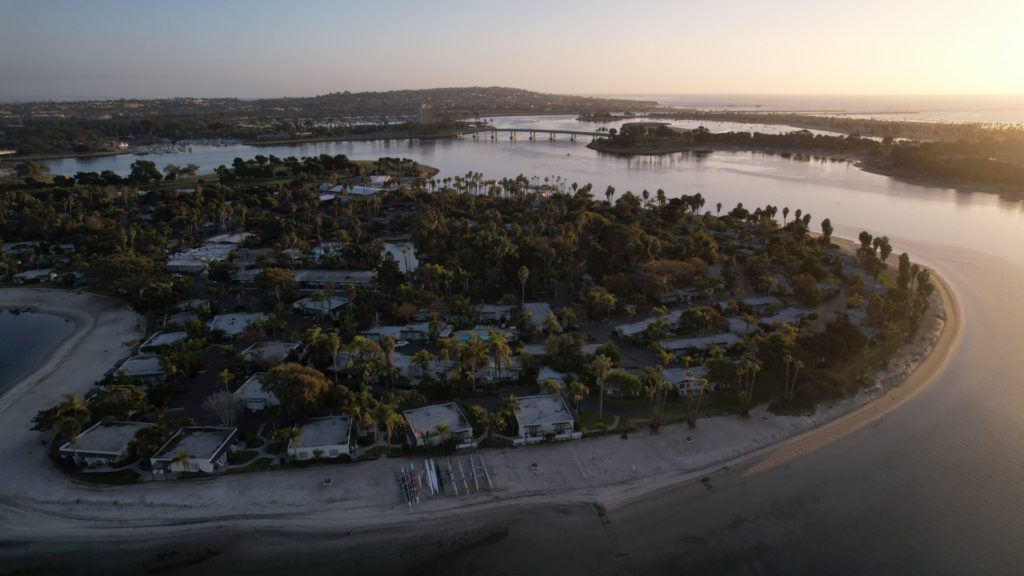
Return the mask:
[[212, 474], [227, 462], [238, 428], [184, 426], [150, 459], [154, 470]]

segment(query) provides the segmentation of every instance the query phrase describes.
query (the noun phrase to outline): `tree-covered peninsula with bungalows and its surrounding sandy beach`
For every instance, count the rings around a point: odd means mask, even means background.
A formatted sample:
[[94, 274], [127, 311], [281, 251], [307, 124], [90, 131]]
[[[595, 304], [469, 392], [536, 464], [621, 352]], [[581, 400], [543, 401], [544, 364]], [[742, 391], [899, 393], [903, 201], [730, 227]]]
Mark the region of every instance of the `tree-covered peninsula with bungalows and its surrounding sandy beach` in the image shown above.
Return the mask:
[[3, 496], [33, 519], [11, 537], [116, 516], [92, 534], [143, 571], [204, 561], [150, 553], [183, 526], [301, 511], [373, 538], [485, 510], [475, 542], [513, 501], [615, 505], [870, 421], [958, 331], [887, 237], [799, 208], [344, 156], [180, 188], [139, 162], [3, 180], [0, 307], [77, 330], [0, 397], [0, 429]]

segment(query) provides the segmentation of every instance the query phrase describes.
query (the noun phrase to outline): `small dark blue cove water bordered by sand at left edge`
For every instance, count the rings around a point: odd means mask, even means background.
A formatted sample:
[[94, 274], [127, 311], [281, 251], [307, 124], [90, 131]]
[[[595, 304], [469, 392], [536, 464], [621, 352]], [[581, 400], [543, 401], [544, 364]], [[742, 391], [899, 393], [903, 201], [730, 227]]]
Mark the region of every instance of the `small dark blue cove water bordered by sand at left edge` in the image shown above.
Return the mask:
[[0, 394], [28, 376], [75, 331], [75, 324], [45, 314], [0, 310]]

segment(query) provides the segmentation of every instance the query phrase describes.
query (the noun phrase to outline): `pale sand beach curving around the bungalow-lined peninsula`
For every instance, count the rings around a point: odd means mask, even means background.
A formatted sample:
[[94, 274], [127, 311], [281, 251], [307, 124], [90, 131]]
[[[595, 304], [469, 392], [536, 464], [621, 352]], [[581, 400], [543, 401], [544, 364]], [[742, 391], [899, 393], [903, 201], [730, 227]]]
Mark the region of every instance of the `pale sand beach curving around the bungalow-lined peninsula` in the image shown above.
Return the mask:
[[[39, 385], [19, 384], [0, 412], [0, 533], [13, 541], [144, 539], [191, 536], [203, 532], [273, 529], [295, 533], [326, 530], [375, 532], [375, 528], [430, 520], [466, 522], [481, 515], [512, 515], [521, 504], [603, 502], [609, 507], [651, 494], [722, 465], [762, 458], [746, 474], [777, 465], [878, 418], [924, 386], [945, 365], [959, 336], [957, 304], [936, 278], [933, 307], [920, 336], [897, 366], [881, 375], [885, 385], [865, 390], [836, 406], [820, 407], [811, 417], [779, 417], [764, 407], [742, 419], [705, 418], [696, 430], [685, 424], [663, 426], [652, 435], [632, 433], [538, 447], [481, 450], [492, 467], [495, 492], [421, 502], [417, 511], [401, 499], [395, 472], [404, 458], [381, 458], [350, 465], [286, 469], [218, 477], [202, 481], [100, 487], [70, 481], [47, 460], [30, 420], [60, 394], [86, 389], [118, 357], [120, 343], [137, 337], [134, 314], [92, 296], [63, 292], [0, 291], [4, 302], [78, 308], [94, 320], [82, 324], [61, 347]], [[945, 312], [944, 312], [945, 311]], [[946, 312], [949, 313], [948, 320]], [[943, 325], [947, 329], [943, 330]], [[941, 337], [940, 337], [941, 334]], [[77, 342], [77, 343], [76, 343]], [[927, 354], [934, 347], [934, 354]], [[67, 349], [66, 349], [67, 348]], [[927, 357], [927, 360], [925, 360]], [[899, 387], [892, 386], [912, 372]], [[34, 375], [31, 381], [38, 381]], [[870, 402], [879, 399], [880, 402]], [[863, 407], [861, 410], [856, 408]], [[845, 416], [844, 416], [845, 414]], [[764, 418], [762, 418], [764, 416]], [[822, 425], [828, 422], [826, 425]], [[692, 442], [687, 442], [687, 437]], [[788, 440], [788, 442], [786, 442]], [[422, 461], [422, 460], [420, 460]], [[532, 464], [537, 464], [536, 469]], [[321, 486], [332, 477], [331, 487]], [[369, 531], [369, 532], [368, 532]]]

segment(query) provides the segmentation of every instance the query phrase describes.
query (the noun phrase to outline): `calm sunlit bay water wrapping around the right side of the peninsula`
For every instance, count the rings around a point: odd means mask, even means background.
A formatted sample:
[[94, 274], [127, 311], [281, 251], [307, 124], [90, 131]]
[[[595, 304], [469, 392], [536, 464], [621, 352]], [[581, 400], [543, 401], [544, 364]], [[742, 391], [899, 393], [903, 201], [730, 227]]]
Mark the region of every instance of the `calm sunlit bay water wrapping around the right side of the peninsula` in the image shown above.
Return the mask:
[[[714, 493], [680, 486], [613, 512], [608, 526], [584, 508], [524, 521], [501, 542], [447, 559], [445, 571], [1024, 573], [1021, 203], [901, 183], [842, 162], [751, 153], [621, 159], [582, 142], [470, 139], [290, 150], [265, 153], [407, 156], [442, 175], [560, 175], [594, 183], [598, 198], [609, 184], [618, 195], [699, 192], [713, 211], [718, 202], [801, 208], [815, 229], [827, 216], [837, 235], [887, 234], [897, 252], [934, 266], [961, 298], [965, 332], [949, 367], [871, 426], [769, 472], [721, 475]], [[535, 520], [549, 530], [535, 532]]]

